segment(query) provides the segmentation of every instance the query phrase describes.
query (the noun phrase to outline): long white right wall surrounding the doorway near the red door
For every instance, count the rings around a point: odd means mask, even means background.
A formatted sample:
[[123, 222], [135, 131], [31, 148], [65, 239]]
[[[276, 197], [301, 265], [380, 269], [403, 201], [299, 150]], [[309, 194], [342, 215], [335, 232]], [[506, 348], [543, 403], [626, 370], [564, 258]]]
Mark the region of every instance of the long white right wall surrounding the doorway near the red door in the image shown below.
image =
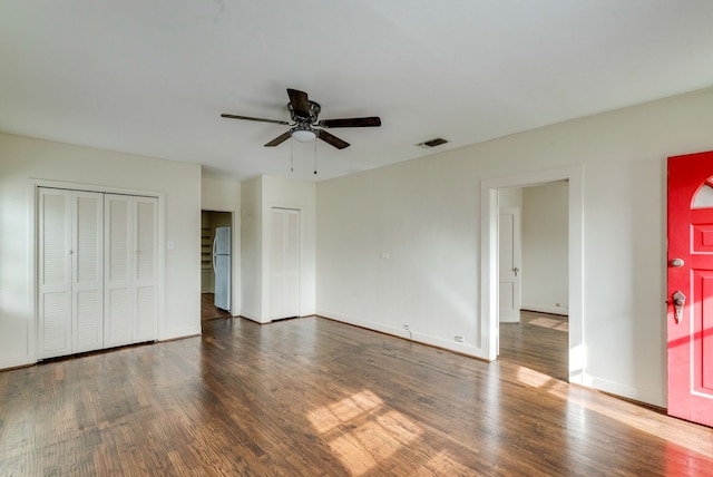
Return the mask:
[[665, 160], [712, 129], [709, 89], [319, 183], [318, 313], [478, 356], [481, 181], [580, 166], [583, 382], [664, 406]]

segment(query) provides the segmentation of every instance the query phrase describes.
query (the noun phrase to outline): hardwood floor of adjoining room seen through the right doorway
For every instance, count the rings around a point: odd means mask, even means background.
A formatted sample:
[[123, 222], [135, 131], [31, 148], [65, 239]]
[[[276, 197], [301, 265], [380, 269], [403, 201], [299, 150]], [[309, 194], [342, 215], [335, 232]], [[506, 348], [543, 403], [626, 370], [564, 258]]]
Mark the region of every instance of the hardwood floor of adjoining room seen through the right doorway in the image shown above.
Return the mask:
[[500, 358], [568, 381], [567, 317], [520, 311], [519, 323], [500, 323]]

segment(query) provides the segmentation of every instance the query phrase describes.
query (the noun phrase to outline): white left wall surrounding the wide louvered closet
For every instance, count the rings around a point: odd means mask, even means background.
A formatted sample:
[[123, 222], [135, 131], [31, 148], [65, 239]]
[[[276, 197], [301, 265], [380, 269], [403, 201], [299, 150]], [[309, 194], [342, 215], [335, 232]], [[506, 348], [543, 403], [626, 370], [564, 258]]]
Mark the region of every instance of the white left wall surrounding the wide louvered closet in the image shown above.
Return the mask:
[[[159, 339], [201, 332], [201, 168], [0, 134], [0, 368], [36, 361], [35, 188], [37, 182], [160, 194], [159, 236], [172, 241], [162, 270]], [[163, 208], [162, 208], [163, 207]]]

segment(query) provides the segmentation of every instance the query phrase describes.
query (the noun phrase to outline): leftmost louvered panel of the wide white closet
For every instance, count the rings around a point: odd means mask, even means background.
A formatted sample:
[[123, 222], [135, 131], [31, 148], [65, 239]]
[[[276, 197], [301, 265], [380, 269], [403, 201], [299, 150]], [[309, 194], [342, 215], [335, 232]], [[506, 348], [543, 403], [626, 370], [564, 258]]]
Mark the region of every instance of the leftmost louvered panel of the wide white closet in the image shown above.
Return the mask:
[[71, 352], [71, 193], [39, 189], [38, 358]]

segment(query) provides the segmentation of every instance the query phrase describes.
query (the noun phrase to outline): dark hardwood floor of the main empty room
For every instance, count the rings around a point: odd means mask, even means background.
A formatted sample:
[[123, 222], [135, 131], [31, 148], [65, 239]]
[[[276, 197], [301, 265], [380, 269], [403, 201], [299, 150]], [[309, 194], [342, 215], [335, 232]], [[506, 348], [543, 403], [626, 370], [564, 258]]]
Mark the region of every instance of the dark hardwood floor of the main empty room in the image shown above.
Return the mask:
[[342, 323], [0, 372], [0, 475], [711, 475], [713, 429]]

